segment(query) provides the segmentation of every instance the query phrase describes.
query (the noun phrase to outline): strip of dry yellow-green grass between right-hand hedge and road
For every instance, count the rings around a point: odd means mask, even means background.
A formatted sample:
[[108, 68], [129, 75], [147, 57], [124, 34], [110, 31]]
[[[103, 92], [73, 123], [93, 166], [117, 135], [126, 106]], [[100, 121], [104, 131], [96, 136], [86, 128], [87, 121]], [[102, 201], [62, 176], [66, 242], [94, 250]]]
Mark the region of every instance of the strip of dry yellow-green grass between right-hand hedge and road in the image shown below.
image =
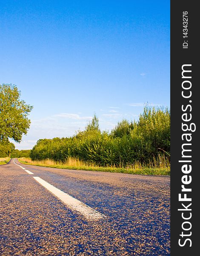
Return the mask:
[[20, 163], [30, 164], [35, 166], [44, 166], [59, 169], [73, 169], [73, 170], [87, 170], [97, 172], [121, 172], [129, 174], [140, 174], [140, 175], [170, 175], [170, 163], [167, 158], [158, 157], [153, 162], [149, 161], [148, 164], [141, 164], [135, 162], [134, 164], [127, 165], [126, 167], [116, 166], [98, 166], [91, 162], [85, 162], [73, 157], [66, 159], [65, 163], [54, 161], [51, 159], [46, 160], [31, 160], [30, 158], [21, 157], [18, 158]]

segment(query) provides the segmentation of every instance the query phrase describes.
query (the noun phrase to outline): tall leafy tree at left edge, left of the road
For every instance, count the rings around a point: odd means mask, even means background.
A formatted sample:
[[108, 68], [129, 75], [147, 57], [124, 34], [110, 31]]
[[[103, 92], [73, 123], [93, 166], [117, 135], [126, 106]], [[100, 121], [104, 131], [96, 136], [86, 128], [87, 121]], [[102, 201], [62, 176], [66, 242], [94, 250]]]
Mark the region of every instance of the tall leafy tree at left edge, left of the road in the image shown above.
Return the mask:
[[28, 132], [31, 124], [28, 115], [33, 107], [26, 105], [20, 96], [15, 85], [0, 84], [0, 143], [9, 138], [20, 142]]

